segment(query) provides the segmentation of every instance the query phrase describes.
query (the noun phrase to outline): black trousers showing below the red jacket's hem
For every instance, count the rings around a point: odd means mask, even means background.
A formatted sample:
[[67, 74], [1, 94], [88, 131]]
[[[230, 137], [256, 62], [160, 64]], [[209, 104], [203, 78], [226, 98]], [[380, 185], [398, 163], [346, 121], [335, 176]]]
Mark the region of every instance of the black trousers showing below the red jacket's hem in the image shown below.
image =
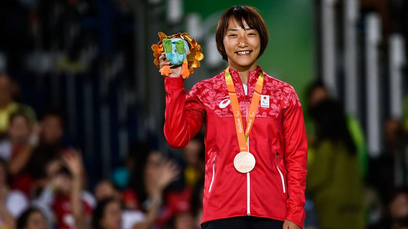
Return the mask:
[[276, 219], [239, 216], [205, 222], [202, 229], [282, 229], [284, 222]]

